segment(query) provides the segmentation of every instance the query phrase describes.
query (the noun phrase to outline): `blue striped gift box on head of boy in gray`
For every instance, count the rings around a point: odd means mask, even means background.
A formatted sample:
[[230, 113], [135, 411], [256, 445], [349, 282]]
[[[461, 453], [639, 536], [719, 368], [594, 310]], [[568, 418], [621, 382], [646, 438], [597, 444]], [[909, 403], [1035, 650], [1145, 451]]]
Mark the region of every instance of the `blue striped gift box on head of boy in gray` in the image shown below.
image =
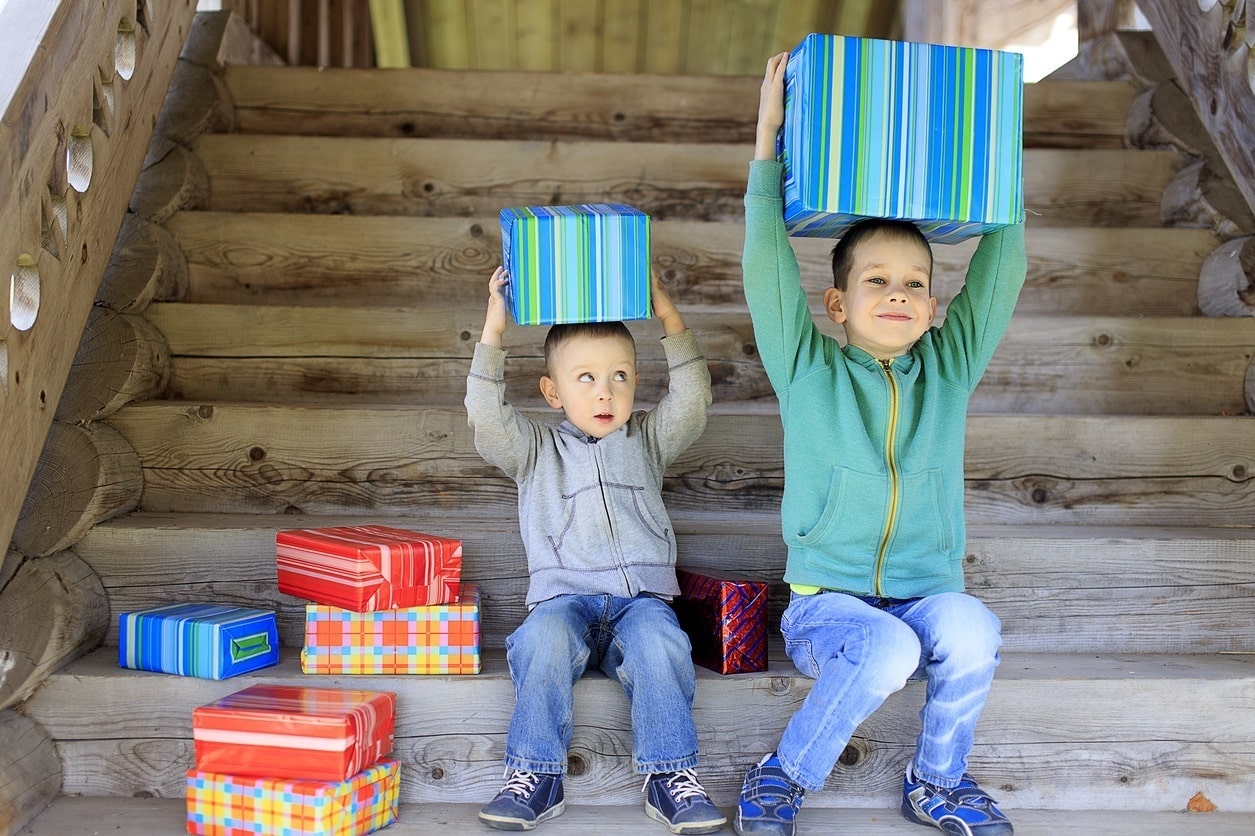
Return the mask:
[[649, 319], [649, 216], [620, 203], [501, 210], [506, 306], [520, 325]]

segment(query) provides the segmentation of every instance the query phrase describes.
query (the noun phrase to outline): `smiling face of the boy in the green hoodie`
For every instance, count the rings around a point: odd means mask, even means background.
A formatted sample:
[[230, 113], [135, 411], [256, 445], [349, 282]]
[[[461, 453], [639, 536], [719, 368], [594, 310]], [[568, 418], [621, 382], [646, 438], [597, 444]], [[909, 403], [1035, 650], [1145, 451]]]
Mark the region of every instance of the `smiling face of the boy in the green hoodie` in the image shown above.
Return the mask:
[[872, 235], [855, 247], [846, 289], [825, 291], [828, 319], [845, 326], [851, 345], [877, 360], [905, 354], [937, 313], [930, 264], [919, 241]]

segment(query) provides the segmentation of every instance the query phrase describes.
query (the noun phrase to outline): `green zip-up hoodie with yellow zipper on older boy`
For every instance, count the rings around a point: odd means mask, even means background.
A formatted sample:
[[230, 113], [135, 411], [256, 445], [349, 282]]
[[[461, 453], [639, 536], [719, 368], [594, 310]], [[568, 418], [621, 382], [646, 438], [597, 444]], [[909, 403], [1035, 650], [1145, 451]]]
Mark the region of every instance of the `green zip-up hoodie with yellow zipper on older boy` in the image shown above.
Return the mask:
[[1024, 285], [1023, 223], [981, 237], [945, 323], [887, 368], [816, 328], [774, 161], [750, 163], [742, 266], [784, 427], [784, 580], [897, 599], [961, 591], [968, 400]]

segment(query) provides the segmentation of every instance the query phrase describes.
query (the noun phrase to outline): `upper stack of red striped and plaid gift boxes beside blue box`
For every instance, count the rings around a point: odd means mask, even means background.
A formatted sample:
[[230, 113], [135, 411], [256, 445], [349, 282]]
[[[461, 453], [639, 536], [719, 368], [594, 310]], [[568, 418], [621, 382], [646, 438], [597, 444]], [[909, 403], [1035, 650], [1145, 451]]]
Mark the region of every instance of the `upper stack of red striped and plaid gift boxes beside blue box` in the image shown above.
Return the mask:
[[479, 591], [462, 541], [389, 526], [280, 531], [279, 590], [305, 598], [307, 674], [477, 674]]

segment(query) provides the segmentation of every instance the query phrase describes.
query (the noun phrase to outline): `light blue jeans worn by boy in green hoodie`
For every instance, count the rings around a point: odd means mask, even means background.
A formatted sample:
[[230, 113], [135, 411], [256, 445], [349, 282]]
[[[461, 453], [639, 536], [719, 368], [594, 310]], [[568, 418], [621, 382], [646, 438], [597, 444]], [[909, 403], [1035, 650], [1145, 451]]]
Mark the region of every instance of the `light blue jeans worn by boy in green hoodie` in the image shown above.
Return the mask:
[[887, 603], [793, 595], [781, 631], [793, 664], [816, 680], [777, 748], [789, 777], [822, 788], [858, 724], [919, 670], [927, 685], [915, 774], [959, 783], [1001, 645], [1001, 623], [989, 608], [963, 592]]

